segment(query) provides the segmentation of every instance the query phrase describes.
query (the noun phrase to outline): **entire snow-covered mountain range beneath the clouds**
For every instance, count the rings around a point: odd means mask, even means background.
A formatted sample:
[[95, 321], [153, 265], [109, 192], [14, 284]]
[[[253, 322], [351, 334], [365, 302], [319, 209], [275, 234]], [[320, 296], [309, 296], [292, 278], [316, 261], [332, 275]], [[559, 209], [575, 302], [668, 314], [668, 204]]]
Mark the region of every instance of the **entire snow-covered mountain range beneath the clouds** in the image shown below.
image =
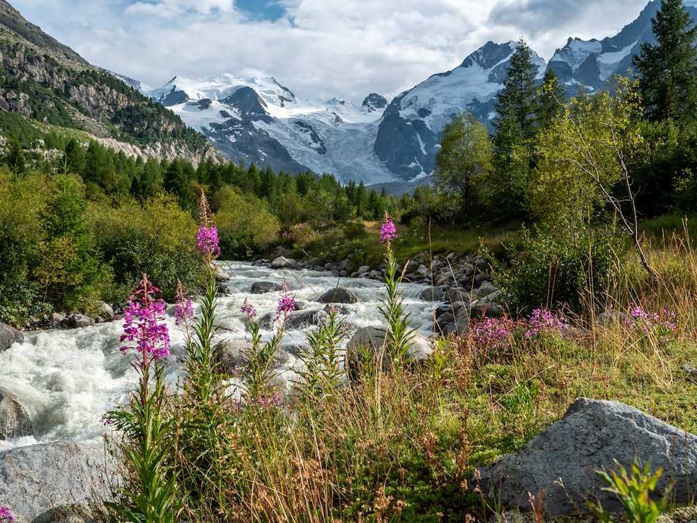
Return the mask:
[[[686, 2], [697, 18], [696, 0]], [[608, 78], [627, 74], [639, 45], [652, 41], [652, 0], [634, 22], [603, 40], [569, 38], [549, 63], [533, 50], [539, 79], [553, 68], [567, 93], [583, 85], [603, 89]], [[443, 127], [469, 108], [482, 121], [495, 116], [516, 42], [488, 42], [446, 73], [437, 73], [391, 103], [372, 93], [360, 107], [346, 100], [300, 100], [273, 78], [174, 77], [160, 89], [143, 91], [207, 135], [227, 158], [245, 165], [295, 174], [311, 170], [366, 185], [425, 179], [434, 169]]]

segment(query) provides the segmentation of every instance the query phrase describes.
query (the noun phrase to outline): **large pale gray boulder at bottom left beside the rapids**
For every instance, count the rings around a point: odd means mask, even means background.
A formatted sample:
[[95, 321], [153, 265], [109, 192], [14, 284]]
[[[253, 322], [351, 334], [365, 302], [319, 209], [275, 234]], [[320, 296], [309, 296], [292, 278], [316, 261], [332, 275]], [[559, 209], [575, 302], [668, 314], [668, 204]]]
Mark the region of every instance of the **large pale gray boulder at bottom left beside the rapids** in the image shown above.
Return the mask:
[[66, 506], [110, 499], [116, 461], [103, 448], [56, 441], [0, 453], [0, 504], [15, 523], [53, 521]]

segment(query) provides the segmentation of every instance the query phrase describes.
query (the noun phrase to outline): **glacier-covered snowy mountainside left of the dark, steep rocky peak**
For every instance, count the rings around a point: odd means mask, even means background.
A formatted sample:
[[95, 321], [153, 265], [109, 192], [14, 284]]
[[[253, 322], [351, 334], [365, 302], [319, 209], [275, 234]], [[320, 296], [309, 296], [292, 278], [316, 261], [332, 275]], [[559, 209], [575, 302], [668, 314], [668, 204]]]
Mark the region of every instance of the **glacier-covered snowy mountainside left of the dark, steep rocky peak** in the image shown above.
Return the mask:
[[273, 78], [174, 77], [148, 94], [210, 138], [225, 156], [295, 174], [331, 172], [342, 182], [390, 181], [372, 156], [377, 122], [387, 100], [366, 97], [361, 107], [333, 98], [300, 100]]

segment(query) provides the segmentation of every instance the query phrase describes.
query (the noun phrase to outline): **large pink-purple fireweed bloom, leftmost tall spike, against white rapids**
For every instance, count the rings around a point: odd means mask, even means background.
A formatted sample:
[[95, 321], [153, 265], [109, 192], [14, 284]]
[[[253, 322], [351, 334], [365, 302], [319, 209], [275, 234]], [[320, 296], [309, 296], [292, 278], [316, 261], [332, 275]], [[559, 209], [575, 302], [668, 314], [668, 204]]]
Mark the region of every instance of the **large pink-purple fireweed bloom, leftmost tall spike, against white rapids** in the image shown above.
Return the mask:
[[155, 288], [147, 276], [143, 275], [123, 311], [124, 334], [119, 340], [128, 340], [132, 344], [121, 347], [121, 352], [126, 354], [128, 349], [136, 349], [143, 361], [148, 356], [155, 360], [169, 356], [169, 330], [164, 323], [164, 301], [162, 298], [153, 298], [151, 294], [155, 292], [160, 292], [160, 289]]

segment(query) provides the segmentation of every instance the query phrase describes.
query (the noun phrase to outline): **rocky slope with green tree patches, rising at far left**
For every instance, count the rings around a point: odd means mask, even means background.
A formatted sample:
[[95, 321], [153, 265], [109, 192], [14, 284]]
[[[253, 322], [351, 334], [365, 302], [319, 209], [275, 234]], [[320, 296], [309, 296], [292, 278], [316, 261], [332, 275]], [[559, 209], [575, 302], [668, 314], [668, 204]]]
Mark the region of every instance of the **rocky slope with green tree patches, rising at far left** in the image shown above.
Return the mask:
[[4, 0], [0, 0], [0, 109], [137, 146], [146, 156], [181, 156], [197, 162], [212, 149], [178, 116], [91, 66]]

